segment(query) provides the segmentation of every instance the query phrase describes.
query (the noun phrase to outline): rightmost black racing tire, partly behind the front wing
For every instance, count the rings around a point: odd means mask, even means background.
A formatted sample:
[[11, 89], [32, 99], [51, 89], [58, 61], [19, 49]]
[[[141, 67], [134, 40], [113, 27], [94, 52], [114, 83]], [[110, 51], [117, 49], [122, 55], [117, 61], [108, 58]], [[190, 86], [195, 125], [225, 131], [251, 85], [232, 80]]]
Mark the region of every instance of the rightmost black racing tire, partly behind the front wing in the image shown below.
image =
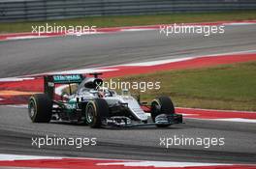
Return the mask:
[[[151, 118], [155, 123], [155, 117], [160, 114], [175, 114], [175, 106], [169, 97], [159, 97], [151, 102]], [[170, 125], [156, 125], [157, 127], [169, 127]]]

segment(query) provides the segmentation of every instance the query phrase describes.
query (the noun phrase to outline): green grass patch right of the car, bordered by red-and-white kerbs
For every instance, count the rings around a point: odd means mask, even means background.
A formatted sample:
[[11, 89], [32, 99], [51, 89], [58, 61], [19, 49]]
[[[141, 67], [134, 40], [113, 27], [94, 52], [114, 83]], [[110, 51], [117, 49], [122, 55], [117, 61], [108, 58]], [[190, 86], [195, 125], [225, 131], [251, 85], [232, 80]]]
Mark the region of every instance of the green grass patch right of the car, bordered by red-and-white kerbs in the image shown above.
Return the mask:
[[170, 96], [180, 107], [256, 111], [256, 62], [160, 71], [120, 80], [160, 81], [160, 90], [141, 93], [142, 99], [147, 101]]

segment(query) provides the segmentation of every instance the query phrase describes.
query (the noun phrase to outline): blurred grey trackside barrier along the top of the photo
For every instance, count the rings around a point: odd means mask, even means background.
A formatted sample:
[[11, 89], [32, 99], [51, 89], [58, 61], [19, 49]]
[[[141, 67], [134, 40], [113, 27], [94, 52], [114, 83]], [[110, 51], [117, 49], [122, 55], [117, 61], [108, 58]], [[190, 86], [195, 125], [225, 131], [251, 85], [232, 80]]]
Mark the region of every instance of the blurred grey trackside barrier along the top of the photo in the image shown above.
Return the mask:
[[0, 0], [0, 21], [255, 9], [256, 0]]

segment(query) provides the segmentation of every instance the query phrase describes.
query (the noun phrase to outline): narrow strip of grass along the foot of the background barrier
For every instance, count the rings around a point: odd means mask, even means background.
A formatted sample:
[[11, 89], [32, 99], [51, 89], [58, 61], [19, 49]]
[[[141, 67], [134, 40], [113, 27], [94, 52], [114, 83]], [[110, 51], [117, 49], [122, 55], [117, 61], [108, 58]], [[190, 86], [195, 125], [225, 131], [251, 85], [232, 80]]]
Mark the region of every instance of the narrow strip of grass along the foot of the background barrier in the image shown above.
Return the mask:
[[221, 20], [256, 19], [256, 11], [205, 13], [205, 14], [154, 14], [131, 16], [95, 16], [75, 19], [59, 19], [48, 21], [0, 23], [0, 33], [31, 32], [32, 25], [48, 24], [61, 26], [68, 25], [95, 25], [97, 27], [152, 25], [162, 23], [207, 22]]

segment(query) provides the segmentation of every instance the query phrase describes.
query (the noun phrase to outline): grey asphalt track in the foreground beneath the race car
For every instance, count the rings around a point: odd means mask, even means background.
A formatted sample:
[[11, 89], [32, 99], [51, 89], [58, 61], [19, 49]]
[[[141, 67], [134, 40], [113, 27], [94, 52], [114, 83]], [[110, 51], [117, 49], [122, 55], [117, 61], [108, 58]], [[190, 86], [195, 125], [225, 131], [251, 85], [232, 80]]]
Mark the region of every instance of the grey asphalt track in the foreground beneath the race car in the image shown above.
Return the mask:
[[[185, 120], [168, 128], [90, 128], [74, 124], [32, 124], [26, 108], [0, 106], [0, 153], [85, 156], [172, 161], [254, 163], [255, 124]], [[96, 137], [96, 146], [32, 146], [32, 137]], [[55, 135], [55, 136], [54, 136]], [[224, 137], [224, 146], [160, 146], [160, 138], [174, 136]]]

